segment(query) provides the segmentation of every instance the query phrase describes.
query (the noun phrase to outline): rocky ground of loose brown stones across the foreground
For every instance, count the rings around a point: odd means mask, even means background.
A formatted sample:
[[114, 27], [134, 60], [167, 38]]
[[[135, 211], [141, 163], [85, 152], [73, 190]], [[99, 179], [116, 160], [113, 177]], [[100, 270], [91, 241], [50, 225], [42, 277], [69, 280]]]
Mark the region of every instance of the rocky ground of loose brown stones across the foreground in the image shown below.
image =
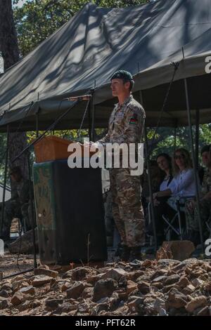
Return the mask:
[[[17, 272], [15, 256], [0, 258], [4, 276]], [[32, 265], [20, 256], [22, 270]], [[0, 281], [0, 315], [211, 315], [210, 295], [210, 260], [40, 265]]]

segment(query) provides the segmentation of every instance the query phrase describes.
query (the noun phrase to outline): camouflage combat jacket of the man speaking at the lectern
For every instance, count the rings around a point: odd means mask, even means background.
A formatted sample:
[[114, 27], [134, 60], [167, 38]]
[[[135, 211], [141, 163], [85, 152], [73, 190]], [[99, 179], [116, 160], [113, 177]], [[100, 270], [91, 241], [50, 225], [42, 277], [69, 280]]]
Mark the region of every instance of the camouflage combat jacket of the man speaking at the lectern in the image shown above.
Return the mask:
[[145, 117], [143, 107], [132, 94], [129, 95], [122, 105], [115, 105], [110, 115], [108, 133], [98, 143], [104, 146], [106, 143], [141, 143]]

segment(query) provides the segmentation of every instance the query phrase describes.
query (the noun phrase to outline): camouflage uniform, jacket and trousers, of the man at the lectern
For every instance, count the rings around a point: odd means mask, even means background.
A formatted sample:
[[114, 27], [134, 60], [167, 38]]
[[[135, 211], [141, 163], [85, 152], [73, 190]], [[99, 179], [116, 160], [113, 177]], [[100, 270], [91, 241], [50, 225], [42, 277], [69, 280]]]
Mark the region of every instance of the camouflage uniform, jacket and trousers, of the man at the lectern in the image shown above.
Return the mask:
[[[106, 143], [141, 143], [145, 112], [133, 96], [124, 100], [110, 115], [108, 133], [98, 141]], [[144, 243], [144, 217], [141, 204], [140, 176], [131, 176], [130, 168], [110, 169], [110, 190], [113, 198], [113, 218], [122, 243], [135, 247]]]

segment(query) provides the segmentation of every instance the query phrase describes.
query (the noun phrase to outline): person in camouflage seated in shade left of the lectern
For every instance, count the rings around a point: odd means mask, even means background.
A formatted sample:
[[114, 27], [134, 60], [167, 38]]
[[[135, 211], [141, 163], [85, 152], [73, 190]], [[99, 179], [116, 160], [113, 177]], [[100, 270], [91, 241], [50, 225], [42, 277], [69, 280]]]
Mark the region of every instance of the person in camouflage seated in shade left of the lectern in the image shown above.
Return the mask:
[[19, 218], [25, 223], [25, 229], [30, 230], [31, 207], [30, 207], [30, 181], [23, 178], [20, 167], [11, 169], [11, 180], [14, 183], [12, 198], [5, 203], [4, 222], [2, 225], [1, 238], [10, 238], [11, 223], [13, 218]]

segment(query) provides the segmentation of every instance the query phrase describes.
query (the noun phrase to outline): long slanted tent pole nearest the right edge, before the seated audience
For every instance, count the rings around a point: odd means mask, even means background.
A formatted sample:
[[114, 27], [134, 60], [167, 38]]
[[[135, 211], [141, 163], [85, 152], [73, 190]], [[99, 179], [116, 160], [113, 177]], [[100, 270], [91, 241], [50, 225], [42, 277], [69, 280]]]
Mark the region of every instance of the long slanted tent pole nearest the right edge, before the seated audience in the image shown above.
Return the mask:
[[196, 167], [196, 157], [193, 147], [193, 131], [191, 126], [191, 111], [190, 111], [190, 103], [189, 103], [189, 97], [188, 97], [188, 84], [187, 79], [184, 78], [184, 88], [185, 88], [185, 94], [186, 94], [186, 108], [188, 113], [188, 126], [189, 126], [189, 135], [191, 140], [191, 154], [193, 158], [193, 170], [194, 170], [194, 182], [196, 186], [196, 208], [198, 212], [198, 226], [199, 226], [199, 232], [200, 232], [200, 243], [203, 249], [203, 252], [205, 251], [205, 246], [203, 242], [203, 229], [202, 229], [202, 223], [201, 223], [201, 217], [200, 217], [200, 198], [199, 198], [199, 190], [198, 190], [198, 175], [197, 175], [197, 167]]

